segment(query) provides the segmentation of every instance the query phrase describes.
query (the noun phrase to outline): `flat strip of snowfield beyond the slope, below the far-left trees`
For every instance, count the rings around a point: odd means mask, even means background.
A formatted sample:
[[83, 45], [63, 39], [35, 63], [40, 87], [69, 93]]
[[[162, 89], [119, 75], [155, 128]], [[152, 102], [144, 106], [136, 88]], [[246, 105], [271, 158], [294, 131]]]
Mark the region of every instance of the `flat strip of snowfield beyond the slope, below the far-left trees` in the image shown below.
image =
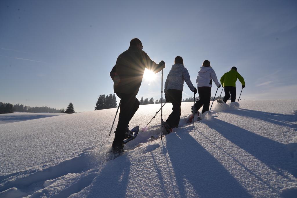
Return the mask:
[[25, 112], [15, 112], [15, 113], [3, 113], [0, 114], [0, 124], [6, 124], [11, 122], [20, 122], [38, 118], [47, 118], [56, 115], [63, 115], [64, 113], [25, 113]]

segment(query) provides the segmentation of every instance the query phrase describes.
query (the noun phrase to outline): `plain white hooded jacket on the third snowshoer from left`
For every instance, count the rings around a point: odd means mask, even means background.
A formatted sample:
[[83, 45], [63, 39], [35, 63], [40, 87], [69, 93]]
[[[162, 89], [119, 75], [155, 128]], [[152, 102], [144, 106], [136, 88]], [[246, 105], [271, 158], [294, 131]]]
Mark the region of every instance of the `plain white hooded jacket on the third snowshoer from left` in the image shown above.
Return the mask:
[[220, 85], [216, 72], [211, 67], [200, 67], [200, 71], [198, 72], [198, 76], [196, 79], [197, 87], [211, 87], [212, 80], [217, 85]]

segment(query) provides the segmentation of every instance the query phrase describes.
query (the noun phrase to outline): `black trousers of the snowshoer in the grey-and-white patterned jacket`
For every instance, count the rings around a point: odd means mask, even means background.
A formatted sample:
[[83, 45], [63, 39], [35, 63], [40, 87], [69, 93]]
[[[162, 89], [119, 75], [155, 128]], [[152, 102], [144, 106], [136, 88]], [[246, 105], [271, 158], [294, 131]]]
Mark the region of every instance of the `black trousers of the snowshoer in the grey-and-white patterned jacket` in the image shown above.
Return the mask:
[[168, 89], [167, 91], [167, 99], [172, 103], [172, 113], [166, 120], [169, 128], [175, 128], [178, 126], [179, 119], [181, 118], [181, 95], [182, 91], [177, 89]]

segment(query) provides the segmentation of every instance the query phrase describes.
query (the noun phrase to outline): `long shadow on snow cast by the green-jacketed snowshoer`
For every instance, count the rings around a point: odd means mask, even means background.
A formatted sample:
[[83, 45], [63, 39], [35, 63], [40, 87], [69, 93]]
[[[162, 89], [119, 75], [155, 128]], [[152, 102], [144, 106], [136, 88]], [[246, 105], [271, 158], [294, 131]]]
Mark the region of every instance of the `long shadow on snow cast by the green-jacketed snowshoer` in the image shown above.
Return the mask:
[[290, 122], [297, 121], [297, 115], [295, 112], [294, 112], [295, 114], [281, 114], [281, 113], [269, 113], [264, 111], [255, 111], [255, 110], [240, 108], [240, 111], [228, 111], [225, 113], [233, 113], [233, 114], [241, 115], [245, 117], [257, 118], [259, 120], [263, 120], [266, 122], [278, 124], [281, 126], [287, 126], [297, 131], [297, 124], [290, 123]]

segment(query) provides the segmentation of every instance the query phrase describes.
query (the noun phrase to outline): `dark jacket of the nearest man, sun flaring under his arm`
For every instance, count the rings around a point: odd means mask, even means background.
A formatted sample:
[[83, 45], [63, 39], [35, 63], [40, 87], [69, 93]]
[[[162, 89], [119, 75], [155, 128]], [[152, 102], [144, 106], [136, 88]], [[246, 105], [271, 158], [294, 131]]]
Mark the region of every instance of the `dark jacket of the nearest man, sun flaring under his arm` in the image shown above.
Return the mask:
[[121, 53], [110, 72], [114, 93], [137, 95], [145, 68], [156, 73], [162, 70], [163, 64], [155, 63], [136, 46], [131, 46]]

